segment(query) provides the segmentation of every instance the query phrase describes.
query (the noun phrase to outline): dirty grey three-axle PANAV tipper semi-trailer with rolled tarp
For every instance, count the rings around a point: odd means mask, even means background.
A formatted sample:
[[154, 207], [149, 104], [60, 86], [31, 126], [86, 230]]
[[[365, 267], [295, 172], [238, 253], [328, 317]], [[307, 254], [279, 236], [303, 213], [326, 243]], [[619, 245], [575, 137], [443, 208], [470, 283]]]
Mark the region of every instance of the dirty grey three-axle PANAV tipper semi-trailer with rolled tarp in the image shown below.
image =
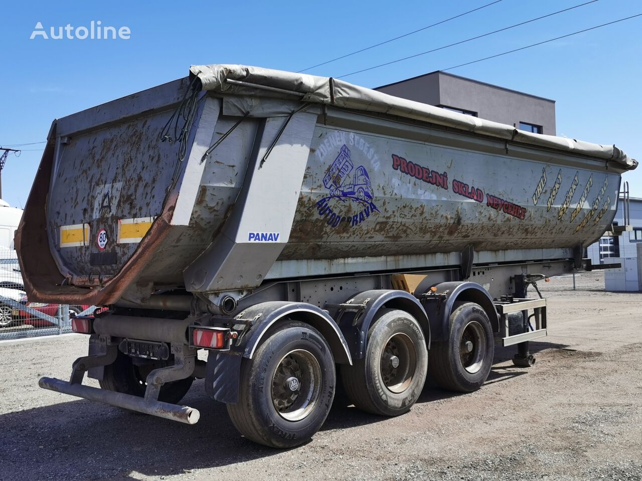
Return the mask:
[[584, 250], [637, 165], [333, 78], [193, 66], [51, 126], [15, 239], [26, 291], [100, 310], [72, 319], [89, 354], [69, 381], [40, 387], [193, 424], [204, 378], [281, 448], [338, 382], [383, 416], [427, 376], [473, 391], [496, 343], [534, 363], [529, 285], [605, 267]]

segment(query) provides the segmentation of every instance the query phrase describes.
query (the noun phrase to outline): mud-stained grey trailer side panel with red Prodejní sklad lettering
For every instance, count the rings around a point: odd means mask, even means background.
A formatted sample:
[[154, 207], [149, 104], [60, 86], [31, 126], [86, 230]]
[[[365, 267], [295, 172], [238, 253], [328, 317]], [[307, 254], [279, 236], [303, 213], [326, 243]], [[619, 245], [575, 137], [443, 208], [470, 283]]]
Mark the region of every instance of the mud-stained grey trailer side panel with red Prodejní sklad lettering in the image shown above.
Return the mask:
[[610, 223], [620, 182], [586, 166], [318, 126], [280, 259], [586, 245]]

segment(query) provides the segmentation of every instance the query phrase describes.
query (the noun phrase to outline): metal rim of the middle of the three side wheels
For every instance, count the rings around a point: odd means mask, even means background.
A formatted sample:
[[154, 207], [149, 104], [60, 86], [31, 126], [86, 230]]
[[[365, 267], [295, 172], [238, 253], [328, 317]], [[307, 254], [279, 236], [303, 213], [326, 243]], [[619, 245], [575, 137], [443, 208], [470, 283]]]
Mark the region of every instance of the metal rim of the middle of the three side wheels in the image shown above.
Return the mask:
[[404, 333], [392, 335], [381, 351], [381, 377], [390, 392], [406, 391], [417, 368], [417, 351], [412, 339]]

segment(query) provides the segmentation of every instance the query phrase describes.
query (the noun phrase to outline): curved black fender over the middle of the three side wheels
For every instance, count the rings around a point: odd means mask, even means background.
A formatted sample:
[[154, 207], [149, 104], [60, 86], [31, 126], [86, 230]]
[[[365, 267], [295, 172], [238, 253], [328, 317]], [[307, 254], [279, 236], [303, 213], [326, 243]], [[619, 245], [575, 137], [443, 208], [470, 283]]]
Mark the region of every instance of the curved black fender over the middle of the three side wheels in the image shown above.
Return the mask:
[[366, 306], [365, 310], [357, 318], [356, 323], [354, 323], [354, 316], [347, 315], [351, 311], [346, 311], [346, 314], [339, 321], [343, 335], [348, 340], [352, 359], [361, 359], [365, 356], [368, 330], [377, 312], [382, 307], [401, 309], [408, 312], [408, 314], [412, 314], [422, 328], [426, 339], [426, 348], [430, 348], [431, 333], [426, 310], [424, 310], [419, 300], [409, 292], [392, 289], [363, 291], [356, 296], [352, 296], [349, 302], [351, 304], [365, 304]]

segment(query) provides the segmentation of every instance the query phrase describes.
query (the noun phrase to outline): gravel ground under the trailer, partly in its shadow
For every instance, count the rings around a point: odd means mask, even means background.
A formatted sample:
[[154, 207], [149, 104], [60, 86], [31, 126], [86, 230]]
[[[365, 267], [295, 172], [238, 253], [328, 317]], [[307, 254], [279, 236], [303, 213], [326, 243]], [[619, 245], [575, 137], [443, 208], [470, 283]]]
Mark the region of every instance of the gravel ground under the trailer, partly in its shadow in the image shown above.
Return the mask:
[[428, 385], [399, 418], [338, 399], [288, 451], [240, 437], [202, 381], [184, 400], [201, 420], [182, 425], [39, 389], [69, 376], [83, 337], [0, 344], [0, 480], [642, 480], [642, 294], [547, 295], [535, 367], [500, 349], [480, 391]]

